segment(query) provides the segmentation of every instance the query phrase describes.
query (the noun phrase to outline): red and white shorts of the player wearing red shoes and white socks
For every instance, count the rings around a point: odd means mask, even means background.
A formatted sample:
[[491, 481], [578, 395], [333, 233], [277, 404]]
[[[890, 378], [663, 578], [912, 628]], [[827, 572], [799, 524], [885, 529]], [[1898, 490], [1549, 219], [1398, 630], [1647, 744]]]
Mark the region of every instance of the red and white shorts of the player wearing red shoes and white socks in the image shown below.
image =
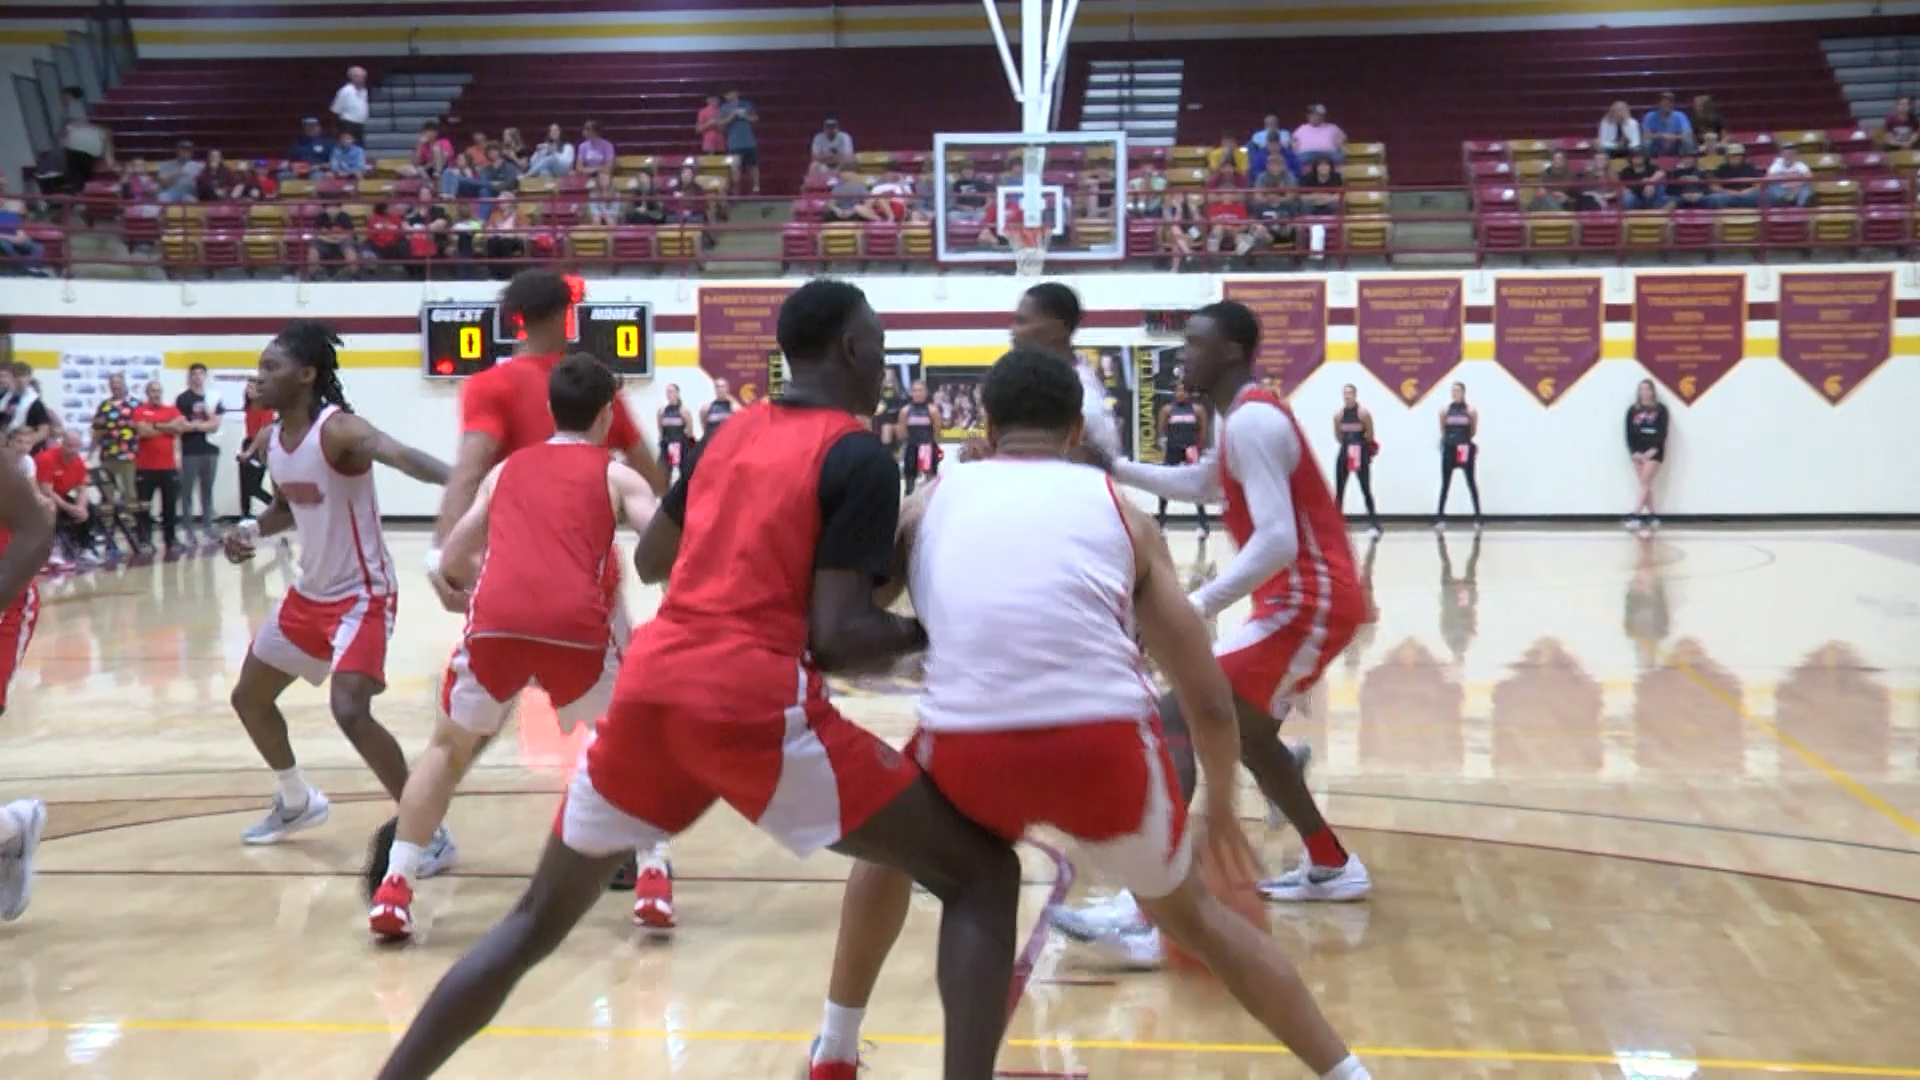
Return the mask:
[[468, 638], [453, 650], [440, 684], [440, 709], [472, 734], [499, 734], [515, 700], [538, 686], [553, 701], [561, 732], [593, 723], [612, 703], [620, 650], [563, 646], [528, 638]]

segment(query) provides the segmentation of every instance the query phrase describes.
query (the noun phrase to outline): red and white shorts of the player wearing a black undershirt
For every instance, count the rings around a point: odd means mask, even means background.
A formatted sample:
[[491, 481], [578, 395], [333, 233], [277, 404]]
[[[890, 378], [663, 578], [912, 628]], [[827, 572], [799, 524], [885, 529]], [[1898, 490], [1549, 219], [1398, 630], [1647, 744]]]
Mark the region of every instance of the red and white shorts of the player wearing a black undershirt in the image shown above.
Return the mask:
[[726, 799], [795, 855], [837, 844], [920, 769], [826, 698], [764, 717], [614, 698], [557, 822], [582, 855], [612, 855], [691, 826]]

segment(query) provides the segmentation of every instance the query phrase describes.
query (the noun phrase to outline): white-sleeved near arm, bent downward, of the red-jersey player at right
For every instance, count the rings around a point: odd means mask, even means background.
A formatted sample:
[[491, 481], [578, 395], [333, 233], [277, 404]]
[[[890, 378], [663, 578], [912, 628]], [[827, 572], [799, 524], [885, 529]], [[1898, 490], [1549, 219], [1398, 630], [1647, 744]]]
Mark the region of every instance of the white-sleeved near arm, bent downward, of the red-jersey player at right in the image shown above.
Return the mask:
[[1261, 582], [1286, 569], [1300, 553], [1294, 525], [1292, 477], [1300, 463], [1300, 432], [1281, 409], [1252, 402], [1233, 413], [1229, 465], [1246, 492], [1246, 513], [1254, 534], [1227, 563], [1227, 569], [1188, 598], [1202, 615], [1213, 617], [1236, 603]]

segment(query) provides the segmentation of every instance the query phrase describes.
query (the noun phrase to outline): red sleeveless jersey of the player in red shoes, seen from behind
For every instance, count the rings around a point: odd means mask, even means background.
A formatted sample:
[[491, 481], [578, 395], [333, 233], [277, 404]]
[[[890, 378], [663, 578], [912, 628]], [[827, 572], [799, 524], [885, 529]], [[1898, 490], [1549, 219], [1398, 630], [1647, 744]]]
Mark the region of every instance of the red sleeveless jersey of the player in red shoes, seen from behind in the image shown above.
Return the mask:
[[468, 638], [605, 648], [614, 515], [607, 450], [553, 438], [515, 452], [493, 480], [486, 559], [467, 607]]

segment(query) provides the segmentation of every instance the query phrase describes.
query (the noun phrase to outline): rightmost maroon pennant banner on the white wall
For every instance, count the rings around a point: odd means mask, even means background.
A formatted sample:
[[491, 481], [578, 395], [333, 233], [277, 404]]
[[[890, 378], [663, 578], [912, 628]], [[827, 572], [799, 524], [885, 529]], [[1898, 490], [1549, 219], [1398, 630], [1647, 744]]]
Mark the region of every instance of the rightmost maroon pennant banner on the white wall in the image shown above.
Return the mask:
[[1780, 359], [1830, 404], [1891, 356], [1891, 273], [1780, 275]]

